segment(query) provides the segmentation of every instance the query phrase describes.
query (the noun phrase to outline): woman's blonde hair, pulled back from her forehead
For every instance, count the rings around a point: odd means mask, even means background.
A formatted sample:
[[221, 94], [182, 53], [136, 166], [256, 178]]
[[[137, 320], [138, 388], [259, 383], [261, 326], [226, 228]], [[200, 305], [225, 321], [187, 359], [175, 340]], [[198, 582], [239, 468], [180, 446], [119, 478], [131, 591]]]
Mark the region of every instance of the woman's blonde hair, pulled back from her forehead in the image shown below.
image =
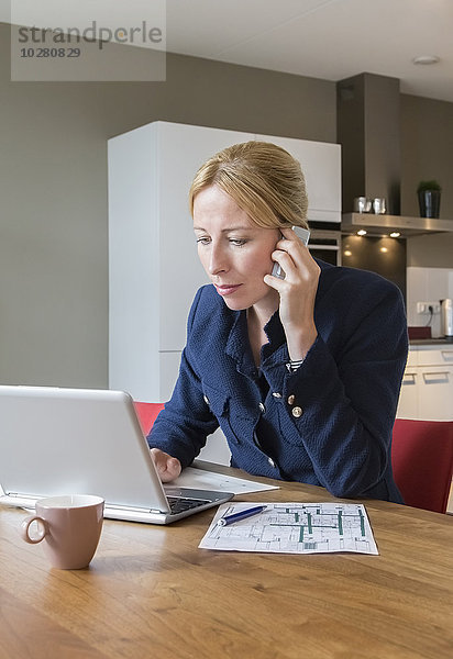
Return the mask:
[[244, 142], [209, 158], [190, 187], [192, 215], [197, 194], [213, 185], [232, 197], [257, 226], [308, 226], [308, 199], [300, 164], [275, 144]]

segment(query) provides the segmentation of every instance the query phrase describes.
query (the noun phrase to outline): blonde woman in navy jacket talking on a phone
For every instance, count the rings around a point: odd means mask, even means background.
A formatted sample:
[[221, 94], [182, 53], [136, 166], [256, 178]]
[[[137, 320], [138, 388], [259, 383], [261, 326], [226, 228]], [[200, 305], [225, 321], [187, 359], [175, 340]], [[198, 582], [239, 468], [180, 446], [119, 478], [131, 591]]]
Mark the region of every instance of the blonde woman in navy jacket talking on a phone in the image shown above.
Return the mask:
[[408, 348], [399, 289], [311, 257], [291, 230], [307, 226], [303, 175], [278, 146], [220, 152], [189, 201], [213, 286], [196, 294], [179, 378], [148, 436], [162, 480], [220, 424], [233, 467], [401, 502], [390, 462]]

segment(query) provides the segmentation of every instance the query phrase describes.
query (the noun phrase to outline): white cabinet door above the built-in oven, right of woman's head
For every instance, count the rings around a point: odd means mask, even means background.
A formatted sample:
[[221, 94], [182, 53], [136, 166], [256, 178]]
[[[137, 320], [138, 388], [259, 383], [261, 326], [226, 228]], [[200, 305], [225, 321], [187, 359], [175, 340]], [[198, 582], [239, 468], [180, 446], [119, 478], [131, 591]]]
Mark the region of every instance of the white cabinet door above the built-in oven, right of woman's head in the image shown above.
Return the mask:
[[281, 146], [299, 160], [307, 185], [308, 220], [340, 223], [341, 146], [273, 135], [257, 135], [256, 138]]

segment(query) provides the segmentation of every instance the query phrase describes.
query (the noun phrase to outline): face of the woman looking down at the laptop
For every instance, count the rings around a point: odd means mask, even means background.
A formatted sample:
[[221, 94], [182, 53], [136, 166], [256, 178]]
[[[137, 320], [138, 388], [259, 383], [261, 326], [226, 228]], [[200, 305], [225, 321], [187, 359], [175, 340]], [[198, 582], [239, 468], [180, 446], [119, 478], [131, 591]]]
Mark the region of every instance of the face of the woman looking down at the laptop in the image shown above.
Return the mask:
[[217, 186], [194, 201], [194, 231], [201, 265], [232, 310], [278, 306], [278, 293], [264, 283], [273, 268], [277, 228], [262, 228]]

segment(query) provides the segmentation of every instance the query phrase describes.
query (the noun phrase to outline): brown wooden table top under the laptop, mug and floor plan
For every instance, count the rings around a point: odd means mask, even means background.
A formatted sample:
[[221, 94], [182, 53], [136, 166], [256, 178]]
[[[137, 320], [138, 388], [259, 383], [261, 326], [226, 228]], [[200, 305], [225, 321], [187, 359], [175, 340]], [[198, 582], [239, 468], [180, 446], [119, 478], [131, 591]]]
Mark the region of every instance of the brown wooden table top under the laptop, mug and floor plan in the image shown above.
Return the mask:
[[[278, 484], [241, 500], [333, 499]], [[364, 503], [379, 556], [201, 550], [211, 510], [167, 527], [106, 521], [75, 571], [49, 569], [19, 537], [26, 513], [0, 506], [0, 657], [451, 659], [453, 517]]]

